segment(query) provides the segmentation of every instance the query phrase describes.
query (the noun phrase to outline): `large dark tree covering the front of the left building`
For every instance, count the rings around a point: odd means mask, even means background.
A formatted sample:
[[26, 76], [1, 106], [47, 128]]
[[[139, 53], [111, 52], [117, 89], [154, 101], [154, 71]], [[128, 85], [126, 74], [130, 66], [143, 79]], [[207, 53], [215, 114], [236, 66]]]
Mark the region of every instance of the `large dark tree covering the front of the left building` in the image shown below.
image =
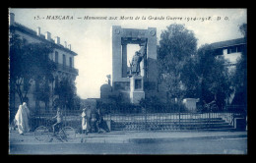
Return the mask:
[[[27, 95], [33, 82], [35, 82], [35, 98], [46, 101], [46, 95], [49, 93], [47, 83], [52, 81], [52, 72], [56, 69], [48, 58], [48, 54], [52, 51], [50, 44], [28, 43], [11, 29], [10, 89], [18, 93], [21, 103], [28, 99]], [[43, 84], [43, 91], [39, 88], [39, 81], [46, 82]]]

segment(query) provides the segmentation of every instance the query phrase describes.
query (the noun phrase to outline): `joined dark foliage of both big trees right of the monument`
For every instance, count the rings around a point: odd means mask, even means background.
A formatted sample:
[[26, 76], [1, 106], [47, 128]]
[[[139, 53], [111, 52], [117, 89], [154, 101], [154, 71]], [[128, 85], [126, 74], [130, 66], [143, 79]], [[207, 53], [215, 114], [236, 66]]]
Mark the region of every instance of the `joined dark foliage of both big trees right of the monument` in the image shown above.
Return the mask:
[[233, 91], [224, 57], [217, 57], [211, 45], [197, 49], [193, 31], [182, 25], [170, 25], [160, 35], [158, 47], [160, 75], [170, 98], [217, 98], [220, 108]]

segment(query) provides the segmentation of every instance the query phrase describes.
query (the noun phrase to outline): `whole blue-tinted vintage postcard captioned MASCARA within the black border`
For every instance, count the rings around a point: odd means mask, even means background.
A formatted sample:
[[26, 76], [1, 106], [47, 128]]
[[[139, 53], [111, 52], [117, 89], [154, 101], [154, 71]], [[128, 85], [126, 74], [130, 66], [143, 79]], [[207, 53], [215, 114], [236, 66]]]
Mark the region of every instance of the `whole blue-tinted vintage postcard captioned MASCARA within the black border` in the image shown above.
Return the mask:
[[9, 154], [247, 154], [247, 9], [9, 8]]

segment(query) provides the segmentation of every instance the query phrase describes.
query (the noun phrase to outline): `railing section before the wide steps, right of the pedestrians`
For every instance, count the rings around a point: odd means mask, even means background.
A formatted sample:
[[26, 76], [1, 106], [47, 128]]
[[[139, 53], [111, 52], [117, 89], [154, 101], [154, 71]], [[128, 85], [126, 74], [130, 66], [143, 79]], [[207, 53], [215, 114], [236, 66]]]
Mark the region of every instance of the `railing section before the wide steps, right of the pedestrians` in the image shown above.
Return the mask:
[[154, 113], [104, 116], [116, 130], [182, 130], [231, 128], [233, 113]]

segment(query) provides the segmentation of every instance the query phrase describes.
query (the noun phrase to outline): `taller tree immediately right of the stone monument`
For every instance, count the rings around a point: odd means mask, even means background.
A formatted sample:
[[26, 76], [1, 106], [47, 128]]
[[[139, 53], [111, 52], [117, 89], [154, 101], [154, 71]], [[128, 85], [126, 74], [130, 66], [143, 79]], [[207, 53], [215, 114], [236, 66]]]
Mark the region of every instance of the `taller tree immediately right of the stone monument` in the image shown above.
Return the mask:
[[182, 75], [182, 70], [191, 56], [195, 55], [196, 49], [197, 39], [194, 32], [184, 25], [170, 25], [160, 34], [159, 68], [169, 97], [183, 98], [186, 92], [183, 81], [186, 76]]

